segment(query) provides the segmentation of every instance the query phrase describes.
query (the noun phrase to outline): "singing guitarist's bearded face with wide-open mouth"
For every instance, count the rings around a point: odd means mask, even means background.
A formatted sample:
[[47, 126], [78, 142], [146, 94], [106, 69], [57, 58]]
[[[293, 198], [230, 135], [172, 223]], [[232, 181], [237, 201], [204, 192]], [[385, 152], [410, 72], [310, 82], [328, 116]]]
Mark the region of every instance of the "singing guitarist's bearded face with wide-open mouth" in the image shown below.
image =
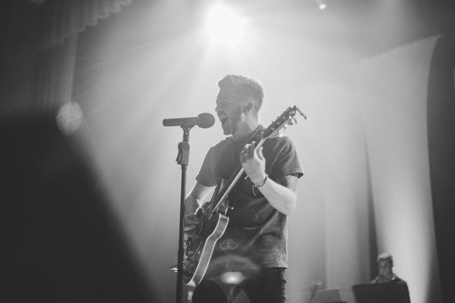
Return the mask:
[[244, 102], [245, 99], [233, 88], [219, 90], [215, 111], [225, 135], [232, 135], [238, 131]]

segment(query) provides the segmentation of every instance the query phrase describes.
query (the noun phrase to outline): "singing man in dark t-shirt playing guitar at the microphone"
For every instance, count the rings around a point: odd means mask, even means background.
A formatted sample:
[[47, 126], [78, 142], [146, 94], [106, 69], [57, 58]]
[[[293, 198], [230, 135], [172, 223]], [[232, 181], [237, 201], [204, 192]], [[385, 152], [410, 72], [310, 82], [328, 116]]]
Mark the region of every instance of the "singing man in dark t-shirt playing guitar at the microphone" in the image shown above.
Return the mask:
[[227, 75], [218, 88], [215, 111], [223, 133], [230, 136], [210, 147], [185, 198], [186, 229], [194, 228], [194, 214], [211, 189], [229, 179], [239, 164], [248, 178], [240, 178], [228, 195], [229, 224], [194, 290], [193, 303], [233, 302], [241, 290], [251, 303], [285, 302], [286, 221], [297, 202], [300, 161], [293, 141], [283, 134], [268, 138], [256, 151], [252, 140], [264, 128], [259, 122], [264, 93], [257, 80]]

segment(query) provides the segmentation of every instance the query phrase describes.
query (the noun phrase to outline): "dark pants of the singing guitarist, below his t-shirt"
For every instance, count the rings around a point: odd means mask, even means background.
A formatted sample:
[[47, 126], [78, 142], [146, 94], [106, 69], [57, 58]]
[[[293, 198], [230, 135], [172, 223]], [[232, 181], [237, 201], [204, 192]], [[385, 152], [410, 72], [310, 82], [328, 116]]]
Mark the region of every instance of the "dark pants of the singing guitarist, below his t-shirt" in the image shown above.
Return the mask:
[[238, 284], [223, 283], [220, 279], [204, 279], [195, 288], [193, 303], [233, 303], [243, 289], [251, 303], [286, 302], [284, 268], [239, 270], [243, 277]]

